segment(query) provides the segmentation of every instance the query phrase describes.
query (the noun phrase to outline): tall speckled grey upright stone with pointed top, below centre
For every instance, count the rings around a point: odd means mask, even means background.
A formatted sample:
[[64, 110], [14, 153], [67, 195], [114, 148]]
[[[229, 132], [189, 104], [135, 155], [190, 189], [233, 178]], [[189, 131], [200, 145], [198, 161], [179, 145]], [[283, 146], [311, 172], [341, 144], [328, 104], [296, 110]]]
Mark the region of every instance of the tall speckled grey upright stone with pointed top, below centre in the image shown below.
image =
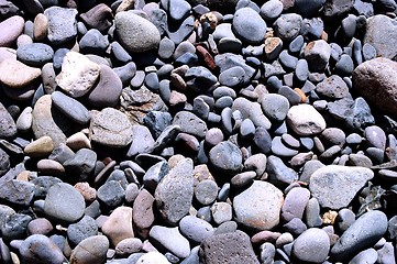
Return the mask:
[[194, 196], [194, 164], [181, 160], [157, 185], [154, 197], [157, 208], [168, 223], [177, 222], [188, 215]]

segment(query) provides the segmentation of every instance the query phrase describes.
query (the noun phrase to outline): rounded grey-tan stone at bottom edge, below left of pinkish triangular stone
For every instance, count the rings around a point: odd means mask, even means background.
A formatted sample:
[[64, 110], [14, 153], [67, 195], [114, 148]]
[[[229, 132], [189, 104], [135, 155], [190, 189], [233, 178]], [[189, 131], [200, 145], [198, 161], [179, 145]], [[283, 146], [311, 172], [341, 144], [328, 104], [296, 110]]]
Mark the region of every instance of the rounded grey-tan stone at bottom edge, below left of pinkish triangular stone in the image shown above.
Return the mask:
[[104, 235], [93, 235], [82, 240], [70, 254], [70, 263], [103, 263], [109, 250], [109, 240]]

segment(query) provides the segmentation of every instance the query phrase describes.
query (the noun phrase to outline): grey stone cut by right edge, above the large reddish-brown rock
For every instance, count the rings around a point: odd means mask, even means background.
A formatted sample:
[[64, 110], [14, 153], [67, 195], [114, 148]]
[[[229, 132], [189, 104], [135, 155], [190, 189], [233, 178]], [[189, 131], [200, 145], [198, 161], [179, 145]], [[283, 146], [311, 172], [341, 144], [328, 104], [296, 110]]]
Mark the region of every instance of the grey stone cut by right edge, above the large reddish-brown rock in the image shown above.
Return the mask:
[[397, 21], [384, 14], [376, 14], [366, 21], [364, 43], [373, 45], [376, 54], [384, 58], [395, 59], [397, 46], [390, 40], [397, 37]]

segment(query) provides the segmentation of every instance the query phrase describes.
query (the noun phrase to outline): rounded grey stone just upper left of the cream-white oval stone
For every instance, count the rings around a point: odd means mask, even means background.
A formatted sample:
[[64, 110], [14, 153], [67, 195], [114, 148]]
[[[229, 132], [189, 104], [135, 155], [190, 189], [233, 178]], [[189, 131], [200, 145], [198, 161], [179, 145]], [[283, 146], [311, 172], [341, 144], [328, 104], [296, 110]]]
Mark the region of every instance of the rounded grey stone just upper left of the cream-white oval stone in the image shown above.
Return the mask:
[[266, 117], [275, 121], [283, 121], [289, 110], [289, 101], [277, 94], [267, 94], [262, 97], [262, 110]]

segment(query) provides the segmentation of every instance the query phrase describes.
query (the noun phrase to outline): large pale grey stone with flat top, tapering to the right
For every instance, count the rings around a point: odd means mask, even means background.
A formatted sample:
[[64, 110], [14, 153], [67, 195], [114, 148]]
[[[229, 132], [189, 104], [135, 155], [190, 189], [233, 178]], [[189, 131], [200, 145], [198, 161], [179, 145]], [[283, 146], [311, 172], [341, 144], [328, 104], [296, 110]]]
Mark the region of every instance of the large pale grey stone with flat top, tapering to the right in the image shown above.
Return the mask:
[[329, 165], [317, 169], [310, 177], [309, 189], [321, 207], [348, 207], [355, 195], [374, 177], [366, 167]]

